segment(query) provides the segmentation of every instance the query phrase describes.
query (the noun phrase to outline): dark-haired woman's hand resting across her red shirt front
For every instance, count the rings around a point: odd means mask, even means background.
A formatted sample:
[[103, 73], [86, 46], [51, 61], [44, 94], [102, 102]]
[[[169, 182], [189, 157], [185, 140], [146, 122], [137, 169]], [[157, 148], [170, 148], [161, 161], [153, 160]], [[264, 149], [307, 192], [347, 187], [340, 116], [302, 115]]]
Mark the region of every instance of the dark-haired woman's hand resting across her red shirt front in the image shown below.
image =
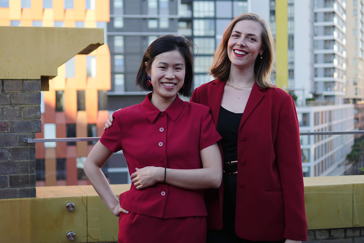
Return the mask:
[[135, 168], [137, 171], [130, 176], [131, 182], [137, 189], [151, 187], [157, 182], [164, 180], [164, 168], [155, 166], [146, 166], [144, 168]]

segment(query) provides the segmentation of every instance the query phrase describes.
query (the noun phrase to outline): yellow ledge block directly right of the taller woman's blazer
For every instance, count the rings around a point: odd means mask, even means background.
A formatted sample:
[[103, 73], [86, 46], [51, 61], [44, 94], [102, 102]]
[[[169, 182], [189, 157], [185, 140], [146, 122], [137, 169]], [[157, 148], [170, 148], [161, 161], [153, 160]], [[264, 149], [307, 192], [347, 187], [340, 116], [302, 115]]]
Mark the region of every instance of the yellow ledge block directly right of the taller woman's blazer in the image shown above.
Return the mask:
[[353, 187], [330, 177], [306, 177], [305, 207], [308, 229], [352, 227]]

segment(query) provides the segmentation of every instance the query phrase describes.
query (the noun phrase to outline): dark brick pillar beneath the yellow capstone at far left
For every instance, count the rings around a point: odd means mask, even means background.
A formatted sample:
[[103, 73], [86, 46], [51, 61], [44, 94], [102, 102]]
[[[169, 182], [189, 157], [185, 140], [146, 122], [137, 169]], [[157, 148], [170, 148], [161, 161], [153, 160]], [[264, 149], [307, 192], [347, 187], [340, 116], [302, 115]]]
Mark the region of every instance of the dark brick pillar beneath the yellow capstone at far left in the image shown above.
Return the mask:
[[35, 197], [35, 145], [40, 132], [40, 80], [1, 80], [0, 199]]

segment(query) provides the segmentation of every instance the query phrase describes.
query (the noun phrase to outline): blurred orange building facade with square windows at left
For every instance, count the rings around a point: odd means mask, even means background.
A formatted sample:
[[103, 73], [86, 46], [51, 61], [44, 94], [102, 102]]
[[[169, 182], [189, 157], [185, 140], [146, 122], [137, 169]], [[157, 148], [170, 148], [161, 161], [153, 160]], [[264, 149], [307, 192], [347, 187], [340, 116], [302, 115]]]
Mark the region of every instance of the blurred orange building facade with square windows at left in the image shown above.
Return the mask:
[[[106, 33], [109, 9], [104, 0], [2, 0], [0, 26], [102, 27]], [[110, 90], [107, 39], [90, 55], [76, 55], [62, 64], [49, 83], [49, 91], [42, 92], [42, 132], [36, 138], [101, 136]], [[83, 164], [94, 143], [36, 143], [37, 186], [87, 184]]]

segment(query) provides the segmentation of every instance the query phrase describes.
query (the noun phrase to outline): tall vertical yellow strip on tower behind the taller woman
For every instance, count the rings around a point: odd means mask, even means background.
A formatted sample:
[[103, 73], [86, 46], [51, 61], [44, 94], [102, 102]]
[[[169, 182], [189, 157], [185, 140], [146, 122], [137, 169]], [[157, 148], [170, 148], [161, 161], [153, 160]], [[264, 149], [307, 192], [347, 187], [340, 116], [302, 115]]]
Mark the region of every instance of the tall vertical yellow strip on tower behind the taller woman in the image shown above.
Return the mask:
[[284, 89], [288, 88], [287, 22], [287, 0], [276, 1], [276, 79], [277, 86]]

